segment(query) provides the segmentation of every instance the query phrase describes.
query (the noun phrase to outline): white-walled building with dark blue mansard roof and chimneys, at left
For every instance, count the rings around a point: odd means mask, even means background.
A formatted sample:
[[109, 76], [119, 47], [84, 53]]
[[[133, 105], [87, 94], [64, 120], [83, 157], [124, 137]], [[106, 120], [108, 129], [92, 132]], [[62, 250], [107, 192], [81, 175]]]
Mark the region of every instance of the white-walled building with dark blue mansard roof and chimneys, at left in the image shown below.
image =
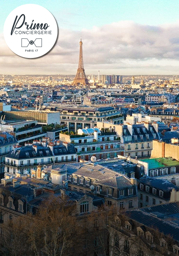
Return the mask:
[[76, 161], [76, 151], [73, 145], [60, 145], [60, 141], [52, 142], [49, 138], [34, 141], [25, 146], [16, 145], [6, 155], [5, 172], [15, 178], [18, 174], [31, 173], [40, 165]]

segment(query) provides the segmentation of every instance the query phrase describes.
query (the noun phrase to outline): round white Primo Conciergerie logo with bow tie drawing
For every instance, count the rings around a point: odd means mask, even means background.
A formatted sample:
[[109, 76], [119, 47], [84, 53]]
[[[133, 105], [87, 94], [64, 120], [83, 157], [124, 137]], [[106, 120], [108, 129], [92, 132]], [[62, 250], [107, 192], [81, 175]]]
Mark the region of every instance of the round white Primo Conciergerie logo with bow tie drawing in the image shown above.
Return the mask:
[[37, 4], [14, 9], [4, 23], [4, 38], [9, 48], [24, 58], [37, 58], [49, 52], [58, 35], [54, 16]]

